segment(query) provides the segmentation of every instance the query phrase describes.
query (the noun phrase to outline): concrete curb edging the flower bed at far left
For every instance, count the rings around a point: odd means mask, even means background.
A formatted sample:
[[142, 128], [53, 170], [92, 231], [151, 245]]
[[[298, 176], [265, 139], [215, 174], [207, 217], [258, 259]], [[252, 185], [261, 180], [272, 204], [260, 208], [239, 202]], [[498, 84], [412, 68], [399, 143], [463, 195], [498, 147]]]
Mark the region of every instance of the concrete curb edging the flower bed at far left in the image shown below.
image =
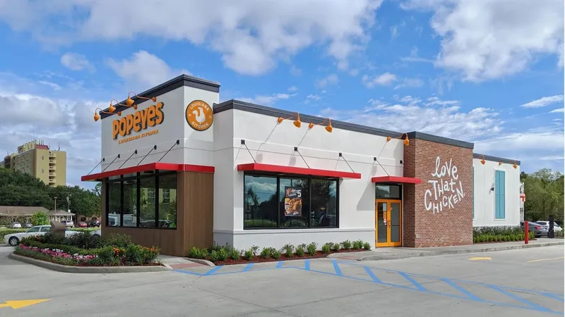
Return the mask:
[[170, 271], [165, 266], [64, 266], [11, 253], [8, 258], [64, 273], [141, 273]]

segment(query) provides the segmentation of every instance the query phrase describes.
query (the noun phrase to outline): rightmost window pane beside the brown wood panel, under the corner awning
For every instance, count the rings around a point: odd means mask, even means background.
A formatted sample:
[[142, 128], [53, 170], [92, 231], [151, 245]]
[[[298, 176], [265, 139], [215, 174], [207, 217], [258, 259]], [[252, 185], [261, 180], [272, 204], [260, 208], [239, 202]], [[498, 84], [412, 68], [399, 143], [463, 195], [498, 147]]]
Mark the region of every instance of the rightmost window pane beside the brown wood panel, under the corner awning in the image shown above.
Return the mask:
[[[159, 228], [177, 228], [177, 173], [160, 175]], [[166, 193], [166, 197], [165, 197]]]

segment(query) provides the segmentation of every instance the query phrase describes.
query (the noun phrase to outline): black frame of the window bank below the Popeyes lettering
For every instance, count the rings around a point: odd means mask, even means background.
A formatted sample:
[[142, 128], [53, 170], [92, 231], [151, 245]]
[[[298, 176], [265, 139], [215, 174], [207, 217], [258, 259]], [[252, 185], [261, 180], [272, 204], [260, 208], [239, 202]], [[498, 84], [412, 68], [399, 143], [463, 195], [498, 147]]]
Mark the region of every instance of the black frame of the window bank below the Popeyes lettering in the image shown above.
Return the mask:
[[[175, 227], [174, 228], [162, 228], [159, 227], [159, 178], [160, 176], [164, 176], [164, 175], [171, 175], [171, 174], [175, 174], [177, 181], [178, 181], [178, 175], [177, 175], [177, 171], [171, 171], [171, 170], [155, 170], [155, 173], [151, 173], [151, 174], [142, 174], [142, 173], [136, 173], [136, 175], [128, 175], [127, 177], [124, 178], [124, 175], [120, 175], [119, 178], [113, 178], [112, 180], [110, 180], [109, 178], [105, 178], [104, 180], [102, 180], [102, 182], [105, 183], [105, 220], [106, 220], [106, 227], [109, 228], [129, 228], [129, 229], [158, 229], [158, 230], [177, 230], [178, 228], [178, 217], [179, 217], [179, 213], [178, 213], [178, 209], [177, 209], [177, 219], [175, 219], [174, 223], [175, 223]], [[140, 227], [140, 212], [141, 212], [141, 179], [142, 178], [153, 178], [155, 180], [155, 226], [154, 227]], [[124, 225], [124, 180], [136, 180], [136, 226], [126, 226]], [[119, 202], [119, 220], [120, 220], [120, 225], [109, 225], [109, 205], [110, 205], [110, 200], [109, 198], [109, 190], [110, 190], [110, 183], [119, 183], [119, 187], [120, 187], [120, 193], [119, 193], [119, 197], [120, 197], [120, 202]], [[178, 186], [177, 186], [178, 187]], [[178, 188], [177, 188], [178, 189]], [[178, 197], [177, 197], [178, 199]], [[178, 205], [177, 205], [178, 208]]]

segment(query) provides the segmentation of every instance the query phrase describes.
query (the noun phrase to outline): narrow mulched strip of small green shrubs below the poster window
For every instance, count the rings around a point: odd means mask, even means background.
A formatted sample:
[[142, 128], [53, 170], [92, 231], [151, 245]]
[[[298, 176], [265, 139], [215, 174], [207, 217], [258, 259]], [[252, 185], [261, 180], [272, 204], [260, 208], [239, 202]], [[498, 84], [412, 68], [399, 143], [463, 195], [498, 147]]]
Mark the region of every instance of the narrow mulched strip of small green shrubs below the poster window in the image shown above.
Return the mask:
[[299, 244], [296, 247], [292, 244], [286, 244], [282, 249], [273, 247], [264, 247], [259, 252], [259, 247], [251, 247], [248, 250], [240, 250], [229, 245], [198, 249], [193, 247], [189, 251], [189, 258], [203, 259], [214, 263], [217, 266], [230, 264], [245, 264], [258, 262], [287, 261], [299, 259], [317, 259], [328, 256], [328, 254], [342, 252], [369, 251], [371, 244], [362, 240], [332, 243], [328, 242], [318, 249], [318, 244], [312, 242], [310, 244]]

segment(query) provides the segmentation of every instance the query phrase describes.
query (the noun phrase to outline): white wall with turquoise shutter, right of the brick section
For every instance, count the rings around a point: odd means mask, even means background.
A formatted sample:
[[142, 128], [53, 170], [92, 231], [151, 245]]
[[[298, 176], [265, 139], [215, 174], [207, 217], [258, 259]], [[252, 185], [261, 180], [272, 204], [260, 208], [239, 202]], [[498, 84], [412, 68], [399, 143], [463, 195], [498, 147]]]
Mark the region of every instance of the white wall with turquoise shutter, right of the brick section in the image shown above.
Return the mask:
[[[474, 227], [482, 226], [515, 226], [520, 225], [520, 166], [514, 169], [512, 164], [473, 159], [475, 169], [474, 208], [475, 216], [472, 220]], [[494, 218], [494, 171], [505, 172], [505, 219]]]

